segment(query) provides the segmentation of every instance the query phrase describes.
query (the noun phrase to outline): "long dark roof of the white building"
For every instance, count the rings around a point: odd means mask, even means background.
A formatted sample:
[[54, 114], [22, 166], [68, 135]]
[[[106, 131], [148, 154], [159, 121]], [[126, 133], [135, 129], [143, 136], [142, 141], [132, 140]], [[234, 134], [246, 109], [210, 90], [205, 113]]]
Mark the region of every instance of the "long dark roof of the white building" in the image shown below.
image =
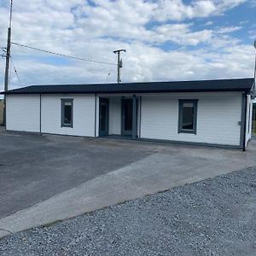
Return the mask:
[[[5, 94], [90, 94], [90, 93], [149, 93], [193, 91], [247, 91], [253, 79], [218, 79], [178, 82], [145, 82], [124, 84], [52, 84], [32, 85], [8, 90]], [[4, 92], [1, 92], [4, 94]]]

